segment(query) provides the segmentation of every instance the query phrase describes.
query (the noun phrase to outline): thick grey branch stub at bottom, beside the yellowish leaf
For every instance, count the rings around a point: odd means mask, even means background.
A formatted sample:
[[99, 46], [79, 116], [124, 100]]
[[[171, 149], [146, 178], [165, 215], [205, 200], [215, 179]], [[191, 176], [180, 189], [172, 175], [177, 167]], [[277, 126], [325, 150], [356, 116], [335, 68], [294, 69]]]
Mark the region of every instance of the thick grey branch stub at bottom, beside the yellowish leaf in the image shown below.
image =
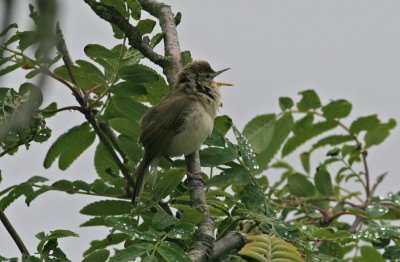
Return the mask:
[[235, 231], [228, 232], [223, 238], [215, 242], [211, 260], [218, 259], [222, 255], [238, 250], [246, 243], [246, 237]]

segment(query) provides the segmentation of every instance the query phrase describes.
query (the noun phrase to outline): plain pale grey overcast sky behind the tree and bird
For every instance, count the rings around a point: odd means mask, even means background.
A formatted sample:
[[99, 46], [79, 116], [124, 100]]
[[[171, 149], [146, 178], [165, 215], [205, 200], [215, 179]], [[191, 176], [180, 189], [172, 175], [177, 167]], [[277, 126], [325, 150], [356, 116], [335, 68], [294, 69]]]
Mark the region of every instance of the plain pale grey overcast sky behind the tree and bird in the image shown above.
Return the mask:
[[[28, 1], [14, 0], [16, 21], [26, 20]], [[73, 59], [84, 58], [83, 47], [98, 43], [112, 47], [116, 42], [110, 26], [95, 16], [82, 0], [59, 1], [61, 27]], [[214, 69], [231, 67], [219, 78], [235, 87], [223, 91], [221, 114], [228, 114], [243, 127], [257, 114], [277, 112], [278, 97], [296, 97], [304, 89], [315, 89], [324, 102], [345, 98], [353, 103], [352, 118], [377, 113], [384, 120], [400, 120], [400, 2], [348, 0], [202, 0], [168, 1], [183, 13], [178, 34], [182, 50], [195, 59], [208, 60]], [[1, 9], [1, 5], [0, 5]], [[18, 14], [18, 16], [17, 16]], [[26, 21], [25, 21], [26, 20]], [[26, 29], [21, 28], [21, 30]], [[18, 77], [2, 84], [16, 86]], [[72, 105], [69, 92], [48, 81], [46, 102]], [[64, 112], [48, 121], [51, 140], [20, 149], [0, 159], [5, 187], [34, 175], [52, 180], [67, 178], [86, 181], [96, 178], [93, 148], [86, 151], [67, 171], [54, 165], [42, 166], [44, 156], [59, 134], [83, 122], [77, 113]], [[381, 146], [369, 152], [372, 177], [390, 174], [379, 193], [399, 191], [399, 128]], [[27, 207], [19, 199], [6, 210], [11, 222], [33, 253], [40, 231], [73, 230], [78, 239], [60, 243], [72, 261], [79, 261], [90, 240], [105, 237], [100, 228], [79, 228], [89, 217], [79, 210], [93, 198], [47, 193]], [[19, 255], [0, 225], [0, 255]]]

